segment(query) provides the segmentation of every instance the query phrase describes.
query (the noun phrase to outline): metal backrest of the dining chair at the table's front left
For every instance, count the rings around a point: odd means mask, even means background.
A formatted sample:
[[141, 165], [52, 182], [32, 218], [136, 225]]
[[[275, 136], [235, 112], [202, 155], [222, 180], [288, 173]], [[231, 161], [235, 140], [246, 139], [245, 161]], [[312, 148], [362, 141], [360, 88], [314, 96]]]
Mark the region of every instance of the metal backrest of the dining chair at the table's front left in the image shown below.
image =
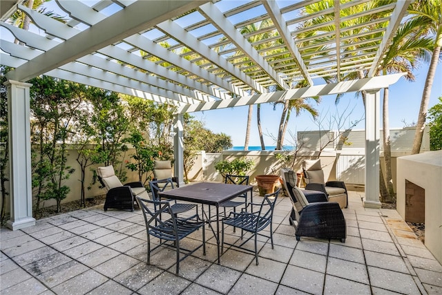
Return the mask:
[[[146, 200], [140, 197], [136, 197], [136, 199], [143, 211], [148, 234], [164, 240], [177, 240], [177, 224], [175, 216], [172, 214], [171, 204], [157, 200]], [[149, 208], [148, 204], [153, 204], [153, 209]], [[161, 216], [163, 213], [169, 214], [171, 219], [162, 220]]]

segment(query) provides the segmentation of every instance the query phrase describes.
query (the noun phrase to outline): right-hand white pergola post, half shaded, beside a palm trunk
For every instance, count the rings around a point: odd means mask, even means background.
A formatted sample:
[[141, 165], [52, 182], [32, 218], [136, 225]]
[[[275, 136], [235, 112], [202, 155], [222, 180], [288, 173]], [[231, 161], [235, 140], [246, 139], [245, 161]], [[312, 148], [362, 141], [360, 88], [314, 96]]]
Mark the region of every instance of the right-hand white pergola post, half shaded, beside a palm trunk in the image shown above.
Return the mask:
[[365, 200], [366, 208], [381, 208], [379, 201], [379, 104], [381, 90], [365, 96]]

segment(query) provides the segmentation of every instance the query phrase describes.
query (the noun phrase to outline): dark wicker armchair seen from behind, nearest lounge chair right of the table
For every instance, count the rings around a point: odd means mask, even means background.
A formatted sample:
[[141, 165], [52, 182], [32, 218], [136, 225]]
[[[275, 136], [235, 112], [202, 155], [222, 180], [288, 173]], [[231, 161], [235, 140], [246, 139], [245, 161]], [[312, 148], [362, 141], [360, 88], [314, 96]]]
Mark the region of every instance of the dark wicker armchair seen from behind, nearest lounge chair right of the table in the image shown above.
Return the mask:
[[291, 219], [296, 240], [301, 236], [315, 238], [338, 238], [345, 242], [347, 227], [343, 211], [337, 202], [309, 203], [298, 187], [291, 187], [290, 200], [298, 218]]

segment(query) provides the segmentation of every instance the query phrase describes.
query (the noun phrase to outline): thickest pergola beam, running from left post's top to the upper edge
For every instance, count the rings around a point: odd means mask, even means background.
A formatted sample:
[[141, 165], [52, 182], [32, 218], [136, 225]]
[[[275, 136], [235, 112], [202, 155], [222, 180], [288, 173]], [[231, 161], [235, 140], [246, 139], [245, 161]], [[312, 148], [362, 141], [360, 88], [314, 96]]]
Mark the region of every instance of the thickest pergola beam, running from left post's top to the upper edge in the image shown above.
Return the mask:
[[8, 73], [8, 79], [28, 81], [47, 73], [79, 57], [93, 53], [145, 28], [197, 8], [202, 1], [162, 1], [162, 5], [151, 5], [150, 1], [137, 1], [107, 17], [95, 26], [51, 48]]

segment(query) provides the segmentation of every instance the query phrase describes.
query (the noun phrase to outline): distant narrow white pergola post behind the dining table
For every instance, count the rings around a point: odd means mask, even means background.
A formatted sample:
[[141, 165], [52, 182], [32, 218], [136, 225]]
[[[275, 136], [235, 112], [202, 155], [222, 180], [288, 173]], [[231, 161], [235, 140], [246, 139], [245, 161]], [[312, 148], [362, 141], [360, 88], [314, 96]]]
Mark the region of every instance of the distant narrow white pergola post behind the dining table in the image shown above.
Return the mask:
[[173, 122], [173, 163], [174, 176], [178, 178], [180, 186], [184, 184], [184, 138], [183, 138], [183, 115], [175, 115]]

